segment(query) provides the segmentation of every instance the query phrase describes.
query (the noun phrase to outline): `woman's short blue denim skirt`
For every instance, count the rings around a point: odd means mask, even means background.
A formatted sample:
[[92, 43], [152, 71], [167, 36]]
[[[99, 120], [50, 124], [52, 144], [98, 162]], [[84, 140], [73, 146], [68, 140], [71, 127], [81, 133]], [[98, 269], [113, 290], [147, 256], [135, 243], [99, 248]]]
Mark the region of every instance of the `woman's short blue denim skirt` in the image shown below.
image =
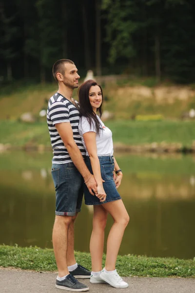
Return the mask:
[[[98, 159], [101, 170], [101, 178], [105, 181], [103, 182], [103, 188], [106, 192], [106, 200], [104, 202], [100, 202], [98, 197], [96, 195], [92, 195], [84, 184], [84, 197], [86, 205], [102, 205], [121, 199], [113, 180], [114, 157], [99, 156]], [[93, 174], [89, 156], [86, 156], [85, 164], [87, 165], [90, 172]]]

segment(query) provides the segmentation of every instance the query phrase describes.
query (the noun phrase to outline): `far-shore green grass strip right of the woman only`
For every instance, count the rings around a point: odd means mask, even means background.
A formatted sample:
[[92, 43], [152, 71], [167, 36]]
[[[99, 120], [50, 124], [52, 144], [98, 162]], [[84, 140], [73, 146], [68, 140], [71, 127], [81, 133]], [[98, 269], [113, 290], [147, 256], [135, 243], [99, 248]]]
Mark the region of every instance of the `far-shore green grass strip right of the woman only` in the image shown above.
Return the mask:
[[195, 122], [181, 121], [109, 121], [114, 142], [142, 145], [153, 142], [192, 145], [195, 140]]

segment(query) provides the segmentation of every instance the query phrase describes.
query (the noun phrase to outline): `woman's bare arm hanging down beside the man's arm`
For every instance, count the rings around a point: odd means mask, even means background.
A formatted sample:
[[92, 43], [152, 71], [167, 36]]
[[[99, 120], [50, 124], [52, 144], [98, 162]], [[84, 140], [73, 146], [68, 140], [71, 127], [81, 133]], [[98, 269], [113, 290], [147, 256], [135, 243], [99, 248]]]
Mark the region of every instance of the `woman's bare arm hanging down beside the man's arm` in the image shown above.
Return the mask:
[[85, 146], [87, 148], [87, 151], [90, 157], [90, 162], [91, 162], [94, 178], [97, 183], [98, 194], [96, 194], [96, 196], [100, 199], [100, 202], [102, 202], [102, 201], [105, 201], [106, 199], [106, 193], [103, 189], [99, 159], [97, 155], [96, 132], [93, 132], [93, 131], [85, 132], [83, 134], [83, 138], [84, 138]]

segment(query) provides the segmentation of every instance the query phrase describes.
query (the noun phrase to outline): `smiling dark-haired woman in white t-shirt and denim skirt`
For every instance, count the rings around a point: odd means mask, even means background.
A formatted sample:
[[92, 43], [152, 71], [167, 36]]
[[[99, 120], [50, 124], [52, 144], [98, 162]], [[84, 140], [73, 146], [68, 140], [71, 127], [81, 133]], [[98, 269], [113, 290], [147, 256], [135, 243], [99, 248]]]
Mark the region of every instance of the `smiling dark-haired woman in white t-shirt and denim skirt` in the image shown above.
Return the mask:
[[[128, 284], [118, 275], [115, 265], [129, 216], [117, 192], [122, 179], [122, 171], [113, 156], [112, 132], [104, 126], [97, 115], [99, 112], [101, 117], [102, 89], [95, 81], [88, 80], [80, 86], [78, 95], [81, 116], [78, 130], [86, 149], [85, 163], [97, 182], [97, 194], [94, 196], [89, 193], [86, 186], [84, 187], [85, 204], [94, 206], [93, 230], [90, 240], [92, 259], [90, 282], [107, 282], [115, 288], [126, 288]], [[114, 170], [117, 174], [115, 181], [113, 179]], [[106, 263], [102, 270], [104, 229], [108, 213], [113, 217], [114, 224], [108, 235]]]

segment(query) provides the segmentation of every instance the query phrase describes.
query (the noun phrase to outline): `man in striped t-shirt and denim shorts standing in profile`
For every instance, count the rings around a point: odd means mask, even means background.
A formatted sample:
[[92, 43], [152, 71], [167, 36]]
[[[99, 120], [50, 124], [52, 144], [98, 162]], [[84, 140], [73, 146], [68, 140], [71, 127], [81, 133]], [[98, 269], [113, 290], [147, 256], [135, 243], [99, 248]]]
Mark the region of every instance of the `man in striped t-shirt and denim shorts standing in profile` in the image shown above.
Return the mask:
[[94, 176], [86, 167], [84, 147], [78, 133], [78, 102], [72, 98], [78, 87], [78, 69], [67, 59], [57, 61], [53, 75], [59, 85], [50, 98], [47, 123], [53, 147], [52, 177], [56, 189], [56, 218], [53, 246], [58, 266], [56, 288], [83, 292], [87, 286], [76, 278], [90, 278], [90, 272], [77, 264], [74, 255], [74, 222], [81, 209], [83, 179], [91, 194], [97, 193]]

